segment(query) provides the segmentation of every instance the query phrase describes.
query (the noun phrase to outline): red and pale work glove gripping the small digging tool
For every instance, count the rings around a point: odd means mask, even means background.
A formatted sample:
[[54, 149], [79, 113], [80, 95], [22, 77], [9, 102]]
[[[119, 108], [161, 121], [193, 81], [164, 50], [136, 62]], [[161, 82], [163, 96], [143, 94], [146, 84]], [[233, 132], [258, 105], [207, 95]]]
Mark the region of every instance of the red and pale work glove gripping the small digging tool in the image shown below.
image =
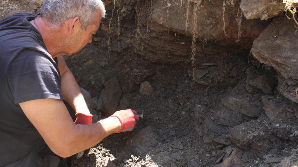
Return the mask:
[[139, 120], [139, 116], [136, 115], [136, 111], [131, 109], [117, 111], [111, 116], [116, 116], [121, 123], [121, 129], [116, 133], [134, 130], [136, 120]]

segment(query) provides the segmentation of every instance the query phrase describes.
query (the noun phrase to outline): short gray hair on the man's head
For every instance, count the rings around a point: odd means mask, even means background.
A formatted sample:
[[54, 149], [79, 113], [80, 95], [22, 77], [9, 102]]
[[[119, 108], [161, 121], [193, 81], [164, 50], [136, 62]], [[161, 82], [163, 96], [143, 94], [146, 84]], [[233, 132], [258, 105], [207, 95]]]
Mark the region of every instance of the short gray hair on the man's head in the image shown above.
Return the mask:
[[79, 17], [81, 28], [85, 29], [95, 22], [95, 13], [100, 10], [101, 17], [105, 17], [105, 6], [101, 0], [44, 0], [41, 7], [41, 17], [50, 23], [61, 27], [70, 19]]

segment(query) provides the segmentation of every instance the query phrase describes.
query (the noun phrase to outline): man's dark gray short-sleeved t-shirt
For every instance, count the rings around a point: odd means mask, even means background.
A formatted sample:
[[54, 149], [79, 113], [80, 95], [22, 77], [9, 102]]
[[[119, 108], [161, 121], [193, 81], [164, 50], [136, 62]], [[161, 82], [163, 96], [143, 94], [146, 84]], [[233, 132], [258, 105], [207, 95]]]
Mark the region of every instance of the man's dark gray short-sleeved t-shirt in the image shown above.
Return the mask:
[[29, 22], [36, 17], [17, 13], [0, 20], [0, 166], [26, 157], [41, 138], [18, 103], [63, 99], [58, 64]]

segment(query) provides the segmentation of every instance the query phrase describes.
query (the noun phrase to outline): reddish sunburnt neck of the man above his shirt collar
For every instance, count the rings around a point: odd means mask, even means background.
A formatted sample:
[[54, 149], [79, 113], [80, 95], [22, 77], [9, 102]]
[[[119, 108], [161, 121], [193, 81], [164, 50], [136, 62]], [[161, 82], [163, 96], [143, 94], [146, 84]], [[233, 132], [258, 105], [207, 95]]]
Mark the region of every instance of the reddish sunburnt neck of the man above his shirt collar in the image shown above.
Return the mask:
[[52, 55], [52, 58], [65, 55], [63, 52], [64, 46], [62, 45], [65, 38], [63, 37], [62, 30], [52, 28], [52, 25], [41, 17], [35, 18], [30, 23], [38, 29], [46, 45], [46, 49]]

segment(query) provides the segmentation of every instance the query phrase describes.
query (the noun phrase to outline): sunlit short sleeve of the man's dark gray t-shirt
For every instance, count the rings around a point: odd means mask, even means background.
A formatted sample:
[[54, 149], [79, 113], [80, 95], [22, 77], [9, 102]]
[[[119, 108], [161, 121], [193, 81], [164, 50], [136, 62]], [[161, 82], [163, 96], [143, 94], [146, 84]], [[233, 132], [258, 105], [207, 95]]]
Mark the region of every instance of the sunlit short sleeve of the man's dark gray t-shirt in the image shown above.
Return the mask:
[[37, 99], [63, 99], [58, 66], [41, 52], [22, 51], [10, 62], [6, 78], [15, 104]]

